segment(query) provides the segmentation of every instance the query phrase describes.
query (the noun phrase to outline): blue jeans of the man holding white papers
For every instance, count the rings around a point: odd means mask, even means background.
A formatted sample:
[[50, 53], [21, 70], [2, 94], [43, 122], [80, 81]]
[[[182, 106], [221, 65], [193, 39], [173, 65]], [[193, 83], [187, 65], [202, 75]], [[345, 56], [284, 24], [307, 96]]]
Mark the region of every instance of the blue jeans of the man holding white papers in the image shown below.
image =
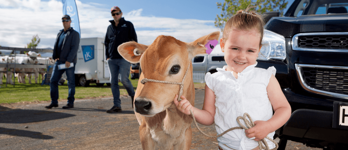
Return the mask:
[[62, 69], [58, 70], [58, 65], [65, 64], [65, 62], [62, 62], [60, 60], [57, 60], [56, 63], [53, 66], [53, 72], [51, 76], [51, 82], [50, 82], [50, 95], [52, 104], [58, 104], [58, 81], [62, 78], [62, 74], [65, 71], [66, 78], [68, 80], [68, 88], [69, 88], [69, 96], [68, 96], [68, 104], [74, 104], [75, 100], [75, 66], [68, 68], [68, 69]]

